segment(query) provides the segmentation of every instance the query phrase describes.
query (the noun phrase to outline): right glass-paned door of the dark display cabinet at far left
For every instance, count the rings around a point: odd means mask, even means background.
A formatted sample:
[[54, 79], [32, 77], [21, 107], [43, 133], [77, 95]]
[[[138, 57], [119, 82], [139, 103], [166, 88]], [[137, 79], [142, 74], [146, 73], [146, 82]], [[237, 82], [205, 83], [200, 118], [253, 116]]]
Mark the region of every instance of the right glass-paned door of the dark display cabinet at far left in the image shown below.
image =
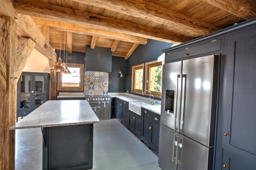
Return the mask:
[[33, 110], [46, 102], [46, 75], [33, 73], [32, 99], [34, 99]]

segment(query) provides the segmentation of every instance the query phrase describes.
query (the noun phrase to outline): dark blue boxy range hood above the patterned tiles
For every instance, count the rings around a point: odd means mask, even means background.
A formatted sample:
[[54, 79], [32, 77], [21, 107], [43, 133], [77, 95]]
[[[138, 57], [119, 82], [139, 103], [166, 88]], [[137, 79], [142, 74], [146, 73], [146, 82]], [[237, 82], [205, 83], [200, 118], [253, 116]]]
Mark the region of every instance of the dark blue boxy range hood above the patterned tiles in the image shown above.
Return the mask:
[[112, 72], [112, 51], [110, 48], [86, 45], [85, 71]]

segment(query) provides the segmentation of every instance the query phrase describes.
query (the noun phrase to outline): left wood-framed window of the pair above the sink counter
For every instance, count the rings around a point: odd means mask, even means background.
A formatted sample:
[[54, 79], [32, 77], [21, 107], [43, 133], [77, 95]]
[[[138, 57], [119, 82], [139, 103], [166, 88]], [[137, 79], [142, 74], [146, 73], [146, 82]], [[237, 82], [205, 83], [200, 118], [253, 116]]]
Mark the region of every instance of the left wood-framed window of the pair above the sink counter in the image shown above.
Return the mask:
[[142, 94], [144, 64], [132, 66], [132, 93]]

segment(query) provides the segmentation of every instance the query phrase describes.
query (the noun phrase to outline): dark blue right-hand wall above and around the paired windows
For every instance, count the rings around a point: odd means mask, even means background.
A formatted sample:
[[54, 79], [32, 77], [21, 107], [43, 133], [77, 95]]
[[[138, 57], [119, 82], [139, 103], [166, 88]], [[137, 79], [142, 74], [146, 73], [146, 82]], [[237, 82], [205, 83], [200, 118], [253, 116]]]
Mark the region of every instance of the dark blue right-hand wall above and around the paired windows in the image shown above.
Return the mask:
[[[157, 58], [163, 53], [161, 50], [171, 46], [172, 43], [160, 42], [150, 39], [148, 39], [148, 42], [145, 45], [140, 44], [132, 53], [132, 55], [128, 58], [126, 91], [129, 91], [129, 93], [131, 93], [132, 66], [157, 60]], [[138, 95], [136, 93], [132, 94]]]

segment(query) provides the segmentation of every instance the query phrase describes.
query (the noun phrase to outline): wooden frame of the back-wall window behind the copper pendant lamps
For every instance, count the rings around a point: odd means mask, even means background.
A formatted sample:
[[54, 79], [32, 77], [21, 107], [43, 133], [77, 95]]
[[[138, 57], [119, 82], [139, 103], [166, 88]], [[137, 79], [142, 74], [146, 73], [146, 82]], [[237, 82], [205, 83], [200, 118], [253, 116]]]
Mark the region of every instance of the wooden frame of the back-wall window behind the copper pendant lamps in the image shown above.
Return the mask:
[[79, 87], [63, 87], [62, 74], [58, 72], [58, 88], [59, 91], [83, 91], [84, 90], [84, 64], [67, 63], [67, 67], [80, 68], [80, 83]]

